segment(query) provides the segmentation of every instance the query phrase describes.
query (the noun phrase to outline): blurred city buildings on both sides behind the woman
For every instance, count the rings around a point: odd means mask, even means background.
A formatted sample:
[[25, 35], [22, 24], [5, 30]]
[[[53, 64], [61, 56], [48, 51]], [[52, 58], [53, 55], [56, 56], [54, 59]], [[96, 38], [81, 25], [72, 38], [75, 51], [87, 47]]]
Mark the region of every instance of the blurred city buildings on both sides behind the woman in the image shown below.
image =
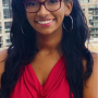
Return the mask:
[[[98, 52], [98, 0], [78, 0], [87, 19], [90, 40], [86, 46], [90, 51]], [[0, 0], [0, 50], [8, 48], [12, 22], [11, 0]]]

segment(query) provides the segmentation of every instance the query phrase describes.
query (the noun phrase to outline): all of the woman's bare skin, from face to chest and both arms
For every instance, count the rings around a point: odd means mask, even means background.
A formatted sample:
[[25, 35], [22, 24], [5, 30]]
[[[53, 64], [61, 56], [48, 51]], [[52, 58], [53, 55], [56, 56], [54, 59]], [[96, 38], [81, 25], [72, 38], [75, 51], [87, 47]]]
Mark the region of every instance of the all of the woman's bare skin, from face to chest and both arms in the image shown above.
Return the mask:
[[[44, 0], [41, 0], [44, 1]], [[40, 83], [45, 85], [47, 77], [57, 63], [57, 61], [62, 56], [60, 49], [60, 41], [62, 38], [62, 21], [64, 16], [68, 16], [72, 11], [73, 3], [62, 2], [60, 10], [56, 12], [49, 12], [41, 5], [38, 13], [28, 13], [26, 12], [27, 20], [33, 28], [36, 30], [36, 45], [39, 49], [38, 53], [35, 56], [34, 60], [30, 62], [30, 65]], [[44, 19], [54, 19], [54, 22], [49, 27], [41, 27], [36, 24], [35, 21]], [[52, 57], [52, 58], [51, 58]], [[7, 50], [0, 51], [0, 61], [7, 58]], [[93, 53], [94, 58], [94, 69], [93, 74], [87, 81], [88, 88], [84, 85], [83, 98], [97, 98], [97, 54]], [[52, 60], [53, 59], [53, 60]], [[0, 79], [1, 74], [4, 71], [5, 61], [0, 63]], [[40, 64], [41, 63], [41, 64]], [[84, 69], [86, 71], [86, 60], [83, 60]]]

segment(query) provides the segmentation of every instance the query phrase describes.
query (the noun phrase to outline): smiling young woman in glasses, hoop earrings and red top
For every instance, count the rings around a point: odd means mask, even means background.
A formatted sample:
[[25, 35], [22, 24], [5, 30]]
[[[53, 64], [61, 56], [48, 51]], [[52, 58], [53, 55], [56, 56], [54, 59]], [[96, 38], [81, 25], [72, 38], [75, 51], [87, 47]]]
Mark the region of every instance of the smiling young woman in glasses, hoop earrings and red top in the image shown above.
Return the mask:
[[12, 45], [0, 51], [0, 98], [97, 98], [97, 54], [77, 0], [12, 0]]

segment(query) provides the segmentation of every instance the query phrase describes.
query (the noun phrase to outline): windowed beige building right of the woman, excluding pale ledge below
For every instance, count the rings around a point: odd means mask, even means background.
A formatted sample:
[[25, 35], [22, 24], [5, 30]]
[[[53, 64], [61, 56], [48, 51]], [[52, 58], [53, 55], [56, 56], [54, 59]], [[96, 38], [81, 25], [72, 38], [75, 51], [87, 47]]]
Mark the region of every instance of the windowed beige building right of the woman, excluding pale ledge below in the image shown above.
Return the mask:
[[91, 38], [98, 38], [98, 1], [79, 0], [83, 12], [87, 19], [87, 24]]

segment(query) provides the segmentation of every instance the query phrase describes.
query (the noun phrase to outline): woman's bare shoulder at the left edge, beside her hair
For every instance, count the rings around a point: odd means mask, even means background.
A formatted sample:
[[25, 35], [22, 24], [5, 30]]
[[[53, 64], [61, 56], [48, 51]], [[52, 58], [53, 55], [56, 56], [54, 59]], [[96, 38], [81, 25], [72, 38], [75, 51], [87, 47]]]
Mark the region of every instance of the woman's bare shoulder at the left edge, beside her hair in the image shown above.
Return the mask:
[[4, 64], [5, 64], [5, 59], [8, 56], [8, 50], [0, 50], [0, 86], [1, 86], [1, 75], [4, 72]]

